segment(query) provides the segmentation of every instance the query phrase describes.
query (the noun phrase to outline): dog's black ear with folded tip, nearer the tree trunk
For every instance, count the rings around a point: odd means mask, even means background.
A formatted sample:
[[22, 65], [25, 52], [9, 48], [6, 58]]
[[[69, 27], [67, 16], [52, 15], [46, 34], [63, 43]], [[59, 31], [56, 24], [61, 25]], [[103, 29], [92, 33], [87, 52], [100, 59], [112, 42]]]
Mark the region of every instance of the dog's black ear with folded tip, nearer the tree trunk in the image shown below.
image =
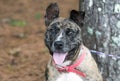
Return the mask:
[[85, 12], [83, 11], [71, 10], [70, 12], [70, 19], [73, 20], [80, 27], [83, 26], [84, 17], [85, 17]]

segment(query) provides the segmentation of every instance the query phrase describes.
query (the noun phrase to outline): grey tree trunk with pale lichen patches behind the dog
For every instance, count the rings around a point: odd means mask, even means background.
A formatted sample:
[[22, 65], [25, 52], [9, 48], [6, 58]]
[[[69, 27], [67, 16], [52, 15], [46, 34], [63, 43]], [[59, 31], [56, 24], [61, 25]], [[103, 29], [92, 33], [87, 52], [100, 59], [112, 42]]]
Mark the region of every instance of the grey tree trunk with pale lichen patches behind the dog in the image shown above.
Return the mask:
[[93, 54], [104, 81], [120, 81], [120, 0], [80, 0], [79, 7], [86, 13], [84, 44], [104, 53]]

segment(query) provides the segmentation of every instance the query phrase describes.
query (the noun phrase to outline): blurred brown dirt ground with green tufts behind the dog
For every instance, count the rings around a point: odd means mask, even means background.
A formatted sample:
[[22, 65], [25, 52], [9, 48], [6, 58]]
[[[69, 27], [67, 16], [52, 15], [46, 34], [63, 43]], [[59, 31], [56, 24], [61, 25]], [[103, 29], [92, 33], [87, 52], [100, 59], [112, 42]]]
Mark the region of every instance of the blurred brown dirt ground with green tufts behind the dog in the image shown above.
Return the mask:
[[44, 45], [44, 14], [57, 2], [68, 17], [78, 0], [0, 0], [0, 81], [44, 81], [50, 59]]

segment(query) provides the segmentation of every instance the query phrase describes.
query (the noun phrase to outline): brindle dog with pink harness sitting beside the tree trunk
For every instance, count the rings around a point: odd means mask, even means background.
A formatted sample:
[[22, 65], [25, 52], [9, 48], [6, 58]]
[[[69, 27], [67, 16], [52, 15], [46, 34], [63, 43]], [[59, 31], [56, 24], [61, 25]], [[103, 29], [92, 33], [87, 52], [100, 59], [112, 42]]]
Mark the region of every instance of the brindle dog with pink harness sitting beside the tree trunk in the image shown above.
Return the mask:
[[47, 7], [45, 44], [52, 59], [45, 71], [46, 81], [103, 81], [95, 60], [82, 42], [84, 16], [83, 11], [71, 10], [69, 18], [61, 18], [57, 3]]

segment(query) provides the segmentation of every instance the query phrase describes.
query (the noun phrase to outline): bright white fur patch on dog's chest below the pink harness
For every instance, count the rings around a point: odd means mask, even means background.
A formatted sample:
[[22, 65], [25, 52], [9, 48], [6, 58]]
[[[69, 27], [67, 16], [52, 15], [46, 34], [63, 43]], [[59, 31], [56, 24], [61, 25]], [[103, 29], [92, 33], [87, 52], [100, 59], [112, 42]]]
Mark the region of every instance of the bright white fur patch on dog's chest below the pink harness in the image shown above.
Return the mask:
[[79, 75], [75, 73], [63, 73], [61, 74], [56, 81], [83, 81]]

